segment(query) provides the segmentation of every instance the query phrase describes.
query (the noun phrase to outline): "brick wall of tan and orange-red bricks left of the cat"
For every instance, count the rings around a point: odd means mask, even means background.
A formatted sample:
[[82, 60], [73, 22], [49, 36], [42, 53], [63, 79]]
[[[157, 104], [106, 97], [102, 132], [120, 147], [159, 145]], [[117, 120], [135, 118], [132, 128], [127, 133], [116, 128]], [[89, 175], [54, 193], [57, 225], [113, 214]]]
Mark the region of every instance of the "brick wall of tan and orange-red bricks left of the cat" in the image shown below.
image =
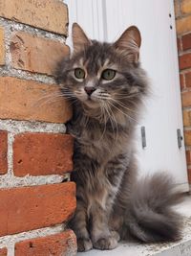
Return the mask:
[[0, 256], [75, 255], [71, 108], [56, 97], [55, 62], [69, 54], [67, 6], [0, 1]]

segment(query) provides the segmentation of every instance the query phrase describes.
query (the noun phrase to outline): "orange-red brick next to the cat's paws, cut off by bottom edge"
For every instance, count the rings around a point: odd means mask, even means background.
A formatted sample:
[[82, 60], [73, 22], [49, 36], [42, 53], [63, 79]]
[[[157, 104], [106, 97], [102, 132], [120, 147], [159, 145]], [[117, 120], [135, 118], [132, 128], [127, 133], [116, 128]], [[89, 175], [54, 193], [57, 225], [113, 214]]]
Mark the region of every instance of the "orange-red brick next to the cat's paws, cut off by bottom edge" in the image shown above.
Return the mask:
[[76, 253], [72, 230], [60, 234], [22, 241], [15, 244], [15, 256], [70, 256]]

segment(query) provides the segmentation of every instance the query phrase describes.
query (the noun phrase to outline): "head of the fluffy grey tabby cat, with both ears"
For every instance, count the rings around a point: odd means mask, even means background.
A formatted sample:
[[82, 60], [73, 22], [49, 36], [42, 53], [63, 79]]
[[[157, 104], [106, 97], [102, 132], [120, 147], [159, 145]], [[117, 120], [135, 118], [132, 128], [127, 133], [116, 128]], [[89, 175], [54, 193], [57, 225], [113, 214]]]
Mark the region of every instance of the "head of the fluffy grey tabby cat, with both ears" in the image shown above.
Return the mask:
[[145, 73], [138, 62], [140, 42], [135, 26], [125, 30], [116, 42], [101, 43], [89, 39], [74, 23], [74, 52], [58, 71], [63, 94], [88, 109], [126, 113], [136, 108], [147, 92]]

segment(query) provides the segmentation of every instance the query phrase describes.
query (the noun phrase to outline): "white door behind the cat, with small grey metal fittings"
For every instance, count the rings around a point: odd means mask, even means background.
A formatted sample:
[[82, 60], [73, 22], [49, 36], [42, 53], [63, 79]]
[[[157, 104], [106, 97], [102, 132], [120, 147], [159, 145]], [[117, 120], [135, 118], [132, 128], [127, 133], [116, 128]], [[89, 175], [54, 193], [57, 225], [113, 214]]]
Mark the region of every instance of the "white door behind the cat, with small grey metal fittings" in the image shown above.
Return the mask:
[[[152, 95], [145, 102], [138, 124], [140, 174], [165, 171], [188, 191], [182, 128], [180, 81], [173, 0], [66, 0], [70, 29], [74, 21], [90, 38], [115, 41], [131, 25], [142, 36], [140, 58], [151, 81]], [[71, 30], [70, 30], [71, 32]], [[68, 44], [72, 46], [69, 37]], [[146, 147], [142, 148], [141, 127]]]

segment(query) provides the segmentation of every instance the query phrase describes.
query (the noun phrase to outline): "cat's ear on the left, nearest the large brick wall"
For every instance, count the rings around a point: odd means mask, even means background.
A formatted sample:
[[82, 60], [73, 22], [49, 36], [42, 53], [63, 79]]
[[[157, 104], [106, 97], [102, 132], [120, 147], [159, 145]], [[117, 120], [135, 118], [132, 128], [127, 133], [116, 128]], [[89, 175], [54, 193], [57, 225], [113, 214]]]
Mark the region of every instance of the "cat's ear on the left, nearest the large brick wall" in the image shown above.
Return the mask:
[[73, 46], [74, 52], [84, 50], [87, 46], [91, 45], [91, 40], [85, 35], [82, 28], [77, 24], [73, 24]]

